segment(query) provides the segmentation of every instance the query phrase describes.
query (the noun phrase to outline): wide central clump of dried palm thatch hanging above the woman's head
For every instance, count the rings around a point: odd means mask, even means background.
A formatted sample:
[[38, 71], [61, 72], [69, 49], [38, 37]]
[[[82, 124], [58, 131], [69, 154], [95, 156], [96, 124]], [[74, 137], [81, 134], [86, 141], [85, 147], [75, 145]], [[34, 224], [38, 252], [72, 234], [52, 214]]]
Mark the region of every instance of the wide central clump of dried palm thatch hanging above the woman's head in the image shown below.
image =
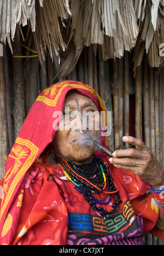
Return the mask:
[[70, 54], [72, 62], [68, 65], [66, 60], [56, 76], [73, 70], [84, 46], [98, 45], [100, 59], [107, 60], [123, 56], [125, 50], [130, 51], [136, 44], [138, 26], [132, 0], [71, 0], [69, 3], [72, 24], [68, 43], [73, 40], [75, 55], [71, 49], [67, 56]]

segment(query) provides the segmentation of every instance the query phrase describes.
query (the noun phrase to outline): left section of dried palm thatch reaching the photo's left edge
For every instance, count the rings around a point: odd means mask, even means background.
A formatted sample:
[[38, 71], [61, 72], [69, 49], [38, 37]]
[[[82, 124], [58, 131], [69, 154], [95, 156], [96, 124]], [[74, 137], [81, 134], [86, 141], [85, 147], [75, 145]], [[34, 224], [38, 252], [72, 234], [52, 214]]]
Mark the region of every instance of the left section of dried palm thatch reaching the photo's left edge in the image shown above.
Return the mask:
[[[30, 20], [34, 33], [39, 60], [44, 60], [43, 48], [46, 45], [54, 60], [59, 56], [59, 49], [66, 50], [63, 42], [60, 22], [65, 26], [64, 19], [71, 15], [68, 0], [3, 0], [0, 1], [0, 39], [8, 43], [14, 39], [16, 25], [26, 26]], [[59, 19], [60, 17], [60, 19]], [[56, 54], [56, 56], [53, 55]]]

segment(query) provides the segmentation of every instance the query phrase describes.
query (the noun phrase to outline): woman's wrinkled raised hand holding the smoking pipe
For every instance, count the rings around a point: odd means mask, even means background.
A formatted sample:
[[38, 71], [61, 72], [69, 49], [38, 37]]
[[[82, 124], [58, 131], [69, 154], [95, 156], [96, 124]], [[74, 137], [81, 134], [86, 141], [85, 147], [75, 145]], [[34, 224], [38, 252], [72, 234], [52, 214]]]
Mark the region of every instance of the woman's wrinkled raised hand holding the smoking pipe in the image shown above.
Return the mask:
[[113, 158], [109, 161], [115, 167], [137, 174], [144, 181], [149, 182], [154, 189], [159, 190], [164, 185], [164, 172], [151, 150], [140, 139], [125, 136], [122, 140], [133, 144], [136, 149], [115, 150], [112, 154]]

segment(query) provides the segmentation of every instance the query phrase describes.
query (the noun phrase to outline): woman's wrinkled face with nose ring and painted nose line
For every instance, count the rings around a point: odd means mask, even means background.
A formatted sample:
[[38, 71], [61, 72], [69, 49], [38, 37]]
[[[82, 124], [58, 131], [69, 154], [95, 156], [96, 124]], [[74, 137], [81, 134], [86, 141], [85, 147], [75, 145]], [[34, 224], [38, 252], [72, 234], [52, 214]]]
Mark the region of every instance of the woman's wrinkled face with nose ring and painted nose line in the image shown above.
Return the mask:
[[65, 160], [83, 164], [92, 160], [99, 141], [99, 112], [96, 104], [77, 91], [68, 92], [63, 104], [63, 118], [52, 142], [55, 152]]

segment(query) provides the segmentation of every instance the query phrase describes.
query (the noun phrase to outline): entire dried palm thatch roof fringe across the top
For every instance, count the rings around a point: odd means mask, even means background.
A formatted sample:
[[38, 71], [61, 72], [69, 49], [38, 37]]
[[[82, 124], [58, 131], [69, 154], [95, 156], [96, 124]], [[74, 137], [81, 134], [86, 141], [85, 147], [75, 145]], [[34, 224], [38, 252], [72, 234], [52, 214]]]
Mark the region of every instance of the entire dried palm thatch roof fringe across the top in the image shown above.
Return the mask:
[[31, 26], [39, 60], [44, 47], [57, 63], [58, 77], [70, 73], [84, 46], [93, 45], [99, 59], [121, 57], [134, 48], [134, 70], [144, 51], [151, 67], [163, 65], [164, 0], [1, 0], [1, 42], [14, 39], [16, 25]]

